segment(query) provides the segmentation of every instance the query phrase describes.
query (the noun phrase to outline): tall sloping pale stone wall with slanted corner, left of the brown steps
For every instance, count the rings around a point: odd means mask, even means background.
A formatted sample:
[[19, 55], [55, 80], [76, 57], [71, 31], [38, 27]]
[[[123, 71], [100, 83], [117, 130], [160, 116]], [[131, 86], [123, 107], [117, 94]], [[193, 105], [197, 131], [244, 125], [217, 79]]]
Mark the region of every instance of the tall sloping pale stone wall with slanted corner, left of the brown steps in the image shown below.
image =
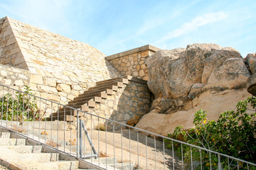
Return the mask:
[[29, 70], [33, 93], [54, 94], [55, 99], [70, 95], [70, 101], [97, 81], [119, 77], [105, 55], [86, 43], [9, 17], [2, 18], [0, 26], [0, 63]]

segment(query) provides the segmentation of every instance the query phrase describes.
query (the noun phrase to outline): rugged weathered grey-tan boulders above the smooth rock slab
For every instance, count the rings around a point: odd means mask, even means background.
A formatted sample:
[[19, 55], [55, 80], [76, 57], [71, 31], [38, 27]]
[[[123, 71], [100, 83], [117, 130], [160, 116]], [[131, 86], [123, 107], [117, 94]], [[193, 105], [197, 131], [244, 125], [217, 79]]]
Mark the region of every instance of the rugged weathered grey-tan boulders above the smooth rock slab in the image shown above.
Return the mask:
[[204, 85], [204, 89], [238, 88], [245, 86], [250, 77], [237, 50], [214, 44], [188, 45], [186, 50], [159, 50], [146, 60], [146, 65], [148, 86], [155, 98], [186, 98], [203, 92]]

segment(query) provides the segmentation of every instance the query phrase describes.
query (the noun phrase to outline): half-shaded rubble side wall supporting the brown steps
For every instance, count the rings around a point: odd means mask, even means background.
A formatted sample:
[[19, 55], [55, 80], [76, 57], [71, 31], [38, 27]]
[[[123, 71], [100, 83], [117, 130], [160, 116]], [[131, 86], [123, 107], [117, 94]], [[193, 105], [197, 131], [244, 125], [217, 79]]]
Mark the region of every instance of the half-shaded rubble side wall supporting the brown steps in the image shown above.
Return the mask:
[[[107, 96], [101, 103], [96, 103], [95, 108], [89, 108], [88, 113], [126, 124], [133, 118], [139, 120], [149, 113], [150, 106], [151, 92], [146, 81], [132, 77], [129, 84], [114, 91], [114, 94]], [[90, 129], [90, 116], [85, 115], [85, 120], [87, 128]], [[96, 117], [92, 118], [92, 128], [97, 128], [97, 121]], [[100, 123], [104, 124], [105, 120], [100, 120]]]

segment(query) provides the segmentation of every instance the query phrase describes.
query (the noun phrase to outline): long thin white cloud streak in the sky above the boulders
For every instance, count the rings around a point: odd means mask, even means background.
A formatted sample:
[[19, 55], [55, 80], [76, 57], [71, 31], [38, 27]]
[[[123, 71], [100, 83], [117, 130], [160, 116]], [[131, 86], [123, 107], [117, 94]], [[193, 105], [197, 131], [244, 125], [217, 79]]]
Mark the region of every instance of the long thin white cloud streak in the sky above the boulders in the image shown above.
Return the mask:
[[205, 26], [209, 23], [215, 23], [216, 21], [223, 20], [228, 17], [228, 14], [220, 11], [217, 13], [206, 13], [203, 16], [198, 16], [194, 18], [191, 22], [183, 23], [181, 28], [177, 28], [176, 30], [173, 30], [166, 35], [164, 35], [162, 38], [160, 38], [157, 43], [161, 44], [165, 42], [166, 40], [171, 40], [172, 38], [180, 37], [181, 35], [186, 35], [191, 33], [193, 30], [196, 30], [200, 28], [201, 26]]

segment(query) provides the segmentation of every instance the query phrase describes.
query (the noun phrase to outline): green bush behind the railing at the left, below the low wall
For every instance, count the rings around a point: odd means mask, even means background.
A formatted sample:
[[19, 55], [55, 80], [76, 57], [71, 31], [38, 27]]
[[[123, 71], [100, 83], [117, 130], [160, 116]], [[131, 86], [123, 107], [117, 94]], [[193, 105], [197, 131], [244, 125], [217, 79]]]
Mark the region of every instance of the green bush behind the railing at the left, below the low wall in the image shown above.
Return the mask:
[[31, 89], [25, 86], [25, 93], [16, 91], [16, 94], [6, 94], [0, 98], [2, 120], [31, 121], [39, 119], [36, 98], [29, 95]]

